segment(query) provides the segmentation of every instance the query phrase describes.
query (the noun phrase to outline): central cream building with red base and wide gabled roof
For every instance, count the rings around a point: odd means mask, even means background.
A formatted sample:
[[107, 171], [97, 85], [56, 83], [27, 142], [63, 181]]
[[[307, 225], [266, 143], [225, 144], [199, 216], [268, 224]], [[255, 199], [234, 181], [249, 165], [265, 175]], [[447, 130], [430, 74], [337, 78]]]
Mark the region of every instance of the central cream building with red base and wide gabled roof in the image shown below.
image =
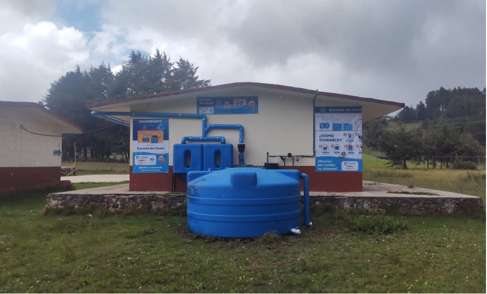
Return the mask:
[[[98, 114], [104, 114], [105, 118], [112, 121], [116, 118], [123, 120], [127, 125], [130, 123], [131, 141], [137, 135], [137, 131], [134, 132], [134, 122], [141, 122], [138, 119], [168, 120], [168, 128], [165, 130], [168, 131], [168, 136], [164, 139], [167, 144], [164, 148], [168, 151], [168, 169], [152, 169], [147, 173], [134, 172], [135, 155], [132, 145], [131, 191], [171, 191], [174, 190], [174, 183], [176, 190], [184, 191], [183, 175], [173, 175], [172, 172], [173, 146], [180, 144], [183, 137], [202, 136], [201, 119], [157, 114], [151, 116], [147, 113], [142, 115], [144, 112], [206, 114], [207, 121], [203, 122], [206, 125], [240, 124], [245, 129], [245, 164], [263, 166], [264, 163], [270, 162], [278, 164], [282, 169], [298, 169], [310, 176], [312, 191], [361, 191], [361, 123], [399, 110], [404, 104], [281, 85], [233, 83], [134, 98], [87, 101], [87, 107], [96, 110]], [[322, 113], [329, 109], [331, 113]], [[343, 114], [334, 113], [337, 109], [343, 110]], [[354, 109], [358, 113], [355, 116], [345, 113], [353, 112]], [[325, 122], [327, 119], [329, 121]], [[342, 130], [344, 133], [341, 133]], [[341, 138], [343, 135], [349, 137], [342, 138], [341, 146], [320, 141], [332, 141], [329, 136]], [[214, 129], [206, 136], [222, 136], [226, 143], [233, 144], [233, 163], [239, 163], [238, 130]], [[321, 136], [324, 138], [321, 139]], [[347, 139], [351, 138], [355, 141], [346, 143]], [[277, 157], [268, 157], [268, 153]], [[330, 155], [332, 161], [341, 158], [343, 167], [333, 168], [339, 171], [319, 168], [318, 165], [321, 163], [318, 158], [325, 155]], [[355, 165], [352, 159], [359, 165]], [[145, 159], [139, 157], [138, 160]], [[165, 162], [165, 158], [162, 160]], [[338, 165], [339, 163], [338, 160]]]

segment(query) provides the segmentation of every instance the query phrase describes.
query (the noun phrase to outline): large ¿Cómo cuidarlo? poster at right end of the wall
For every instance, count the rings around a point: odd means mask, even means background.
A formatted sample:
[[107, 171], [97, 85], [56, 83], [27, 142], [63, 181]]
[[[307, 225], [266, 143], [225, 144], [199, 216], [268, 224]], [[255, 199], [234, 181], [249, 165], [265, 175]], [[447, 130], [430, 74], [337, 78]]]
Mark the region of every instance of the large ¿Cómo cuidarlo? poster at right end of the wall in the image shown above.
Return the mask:
[[362, 171], [362, 107], [315, 107], [317, 172]]

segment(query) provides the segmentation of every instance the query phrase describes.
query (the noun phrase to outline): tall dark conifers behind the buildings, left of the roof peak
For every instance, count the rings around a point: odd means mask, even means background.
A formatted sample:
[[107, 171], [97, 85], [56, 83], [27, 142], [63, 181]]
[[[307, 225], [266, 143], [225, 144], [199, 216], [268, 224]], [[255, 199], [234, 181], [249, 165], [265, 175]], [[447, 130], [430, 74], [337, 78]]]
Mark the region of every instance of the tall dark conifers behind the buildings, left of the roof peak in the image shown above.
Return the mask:
[[[118, 73], [103, 62], [87, 70], [76, 66], [52, 82], [39, 103], [85, 131], [100, 129], [113, 123], [92, 116], [85, 106], [86, 100], [103, 101], [209, 86], [211, 80], [199, 79], [197, 71], [198, 67], [187, 59], [180, 57], [171, 62], [169, 56], [158, 49], [150, 56], [132, 51]], [[128, 162], [129, 131], [127, 127], [114, 125], [98, 132], [63, 138], [63, 160], [74, 160], [77, 156], [79, 160], [101, 162], [110, 161], [112, 154], [118, 154]]]

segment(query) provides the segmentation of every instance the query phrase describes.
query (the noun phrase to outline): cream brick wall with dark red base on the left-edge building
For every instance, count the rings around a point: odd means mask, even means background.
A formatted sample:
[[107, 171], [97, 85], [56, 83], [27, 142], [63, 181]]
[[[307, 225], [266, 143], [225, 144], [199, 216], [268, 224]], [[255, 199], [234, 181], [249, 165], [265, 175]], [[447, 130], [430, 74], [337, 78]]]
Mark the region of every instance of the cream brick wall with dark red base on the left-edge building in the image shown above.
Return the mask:
[[36, 117], [19, 115], [18, 108], [0, 108], [0, 194], [60, 184], [61, 157], [53, 150], [61, 148], [61, 128], [40, 122]]

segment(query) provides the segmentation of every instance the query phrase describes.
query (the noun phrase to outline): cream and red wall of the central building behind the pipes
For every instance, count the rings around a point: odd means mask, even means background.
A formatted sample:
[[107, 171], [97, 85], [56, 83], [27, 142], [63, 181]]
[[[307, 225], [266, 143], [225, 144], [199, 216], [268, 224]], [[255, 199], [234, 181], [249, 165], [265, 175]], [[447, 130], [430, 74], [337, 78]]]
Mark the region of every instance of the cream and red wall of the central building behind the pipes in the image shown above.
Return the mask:
[[[258, 96], [258, 114], [207, 115], [208, 124], [242, 124], [245, 129], [245, 163], [263, 166], [271, 155], [313, 155], [313, 99], [283, 96], [268, 93], [235, 93], [233, 96]], [[322, 102], [323, 103], [323, 102]], [[336, 106], [322, 104], [319, 106]], [[349, 104], [350, 105], [350, 104]], [[348, 106], [348, 105], [339, 105]], [[353, 106], [351, 104], [350, 106]], [[131, 111], [196, 113], [196, 97], [177, 98], [158, 103], [133, 105]], [[169, 119], [169, 166], [172, 166], [172, 146], [181, 143], [184, 136], [201, 136], [200, 119]], [[234, 146], [234, 163], [238, 163], [238, 130], [212, 130], [208, 136], [224, 136]], [[132, 141], [132, 131], [131, 131]], [[132, 166], [132, 150], [130, 165]], [[269, 158], [281, 168], [293, 168], [292, 159], [286, 160], [286, 167], [279, 158]], [[290, 167], [291, 166], [291, 167]], [[300, 158], [294, 168], [310, 176], [312, 191], [361, 191], [361, 173], [318, 173], [315, 172], [315, 158]], [[171, 191], [172, 169], [168, 174], [132, 174], [131, 190]], [[185, 184], [176, 179], [177, 190], [184, 191]]]

